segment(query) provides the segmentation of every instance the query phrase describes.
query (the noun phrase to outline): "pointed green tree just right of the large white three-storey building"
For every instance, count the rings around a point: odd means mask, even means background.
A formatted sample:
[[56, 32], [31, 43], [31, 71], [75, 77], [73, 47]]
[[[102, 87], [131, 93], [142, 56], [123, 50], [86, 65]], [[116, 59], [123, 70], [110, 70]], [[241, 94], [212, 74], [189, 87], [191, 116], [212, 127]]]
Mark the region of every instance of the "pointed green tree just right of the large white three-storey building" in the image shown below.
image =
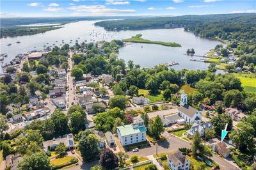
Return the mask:
[[154, 121], [150, 123], [150, 134], [156, 139], [159, 139], [162, 132], [164, 132], [164, 124], [161, 121], [160, 116], [157, 115]]

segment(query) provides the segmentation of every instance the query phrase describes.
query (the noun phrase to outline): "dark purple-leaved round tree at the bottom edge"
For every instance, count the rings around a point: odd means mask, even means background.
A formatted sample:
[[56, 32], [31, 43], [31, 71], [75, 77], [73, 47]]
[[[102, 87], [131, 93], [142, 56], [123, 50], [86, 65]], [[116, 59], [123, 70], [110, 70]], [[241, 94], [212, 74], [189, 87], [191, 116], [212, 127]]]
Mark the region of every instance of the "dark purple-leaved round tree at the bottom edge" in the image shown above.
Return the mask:
[[118, 158], [113, 151], [104, 148], [100, 151], [100, 166], [104, 169], [115, 169], [118, 167]]

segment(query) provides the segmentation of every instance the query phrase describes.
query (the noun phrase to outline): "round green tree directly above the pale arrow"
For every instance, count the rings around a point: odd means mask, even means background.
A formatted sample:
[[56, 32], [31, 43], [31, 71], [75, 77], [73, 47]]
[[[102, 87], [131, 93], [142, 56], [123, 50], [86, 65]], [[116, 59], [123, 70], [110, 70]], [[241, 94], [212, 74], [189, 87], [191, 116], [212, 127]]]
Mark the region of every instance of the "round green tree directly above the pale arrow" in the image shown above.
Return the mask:
[[228, 114], [218, 114], [212, 118], [212, 126], [217, 135], [221, 135], [221, 130], [225, 129], [226, 124], [228, 123], [227, 131], [232, 130], [232, 118]]

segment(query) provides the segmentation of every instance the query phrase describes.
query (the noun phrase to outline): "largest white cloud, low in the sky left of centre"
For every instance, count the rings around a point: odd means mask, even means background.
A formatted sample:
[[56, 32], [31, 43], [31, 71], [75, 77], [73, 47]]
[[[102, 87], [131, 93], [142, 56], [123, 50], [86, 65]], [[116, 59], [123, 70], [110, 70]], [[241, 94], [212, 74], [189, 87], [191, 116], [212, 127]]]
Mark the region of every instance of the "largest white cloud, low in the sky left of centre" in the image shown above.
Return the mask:
[[79, 5], [79, 6], [70, 6], [67, 9], [74, 10], [76, 13], [73, 13], [73, 15], [79, 15], [79, 14], [85, 15], [84, 12], [90, 15], [114, 15], [117, 13], [136, 12], [135, 10], [131, 10], [131, 9], [121, 10], [121, 9], [107, 8], [104, 5]]

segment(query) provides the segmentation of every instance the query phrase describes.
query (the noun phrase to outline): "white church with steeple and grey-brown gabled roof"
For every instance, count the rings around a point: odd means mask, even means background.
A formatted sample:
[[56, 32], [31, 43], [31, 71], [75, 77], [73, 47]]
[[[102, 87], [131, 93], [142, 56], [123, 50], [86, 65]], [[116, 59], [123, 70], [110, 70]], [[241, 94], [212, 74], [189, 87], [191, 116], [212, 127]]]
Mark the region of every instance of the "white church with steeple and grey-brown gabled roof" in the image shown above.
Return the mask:
[[200, 123], [202, 121], [202, 113], [194, 107], [188, 105], [188, 95], [182, 93], [180, 97], [179, 115], [186, 123]]

